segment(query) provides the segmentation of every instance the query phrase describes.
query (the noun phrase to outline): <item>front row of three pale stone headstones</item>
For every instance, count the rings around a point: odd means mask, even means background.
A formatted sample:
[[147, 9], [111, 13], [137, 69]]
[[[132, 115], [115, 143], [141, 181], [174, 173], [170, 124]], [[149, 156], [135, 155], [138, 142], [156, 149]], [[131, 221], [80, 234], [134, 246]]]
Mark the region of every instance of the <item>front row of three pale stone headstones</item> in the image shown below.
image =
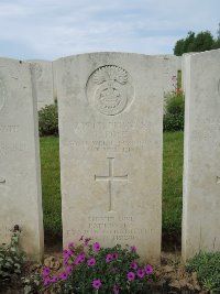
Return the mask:
[[[185, 58], [183, 258], [220, 250], [220, 50]], [[59, 112], [64, 246], [81, 235], [135, 244], [162, 236], [165, 57], [94, 53], [53, 63]], [[36, 63], [0, 59], [0, 242], [43, 254]]]

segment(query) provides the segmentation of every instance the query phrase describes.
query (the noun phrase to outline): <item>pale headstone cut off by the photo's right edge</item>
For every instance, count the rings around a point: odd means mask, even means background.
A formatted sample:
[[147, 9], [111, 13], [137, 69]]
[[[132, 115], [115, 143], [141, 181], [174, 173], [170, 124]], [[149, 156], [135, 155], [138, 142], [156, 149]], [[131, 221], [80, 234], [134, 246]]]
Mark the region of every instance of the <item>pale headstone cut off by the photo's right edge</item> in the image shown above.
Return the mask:
[[183, 258], [220, 251], [220, 50], [187, 55]]

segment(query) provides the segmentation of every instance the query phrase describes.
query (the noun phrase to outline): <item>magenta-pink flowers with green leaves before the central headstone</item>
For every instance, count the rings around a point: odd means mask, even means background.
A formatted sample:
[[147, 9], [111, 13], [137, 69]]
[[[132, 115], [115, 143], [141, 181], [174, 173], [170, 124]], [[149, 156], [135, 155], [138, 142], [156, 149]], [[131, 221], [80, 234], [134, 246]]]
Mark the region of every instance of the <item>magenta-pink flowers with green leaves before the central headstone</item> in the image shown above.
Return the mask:
[[116, 246], [103, 249], [99, 242], [90, 244], [90, 238], [81, 237], [79, 241], [79, 246], [70, 242], [63, 251], [63, 268], [59, 273], [52, 273], [50, 268], [43, 269], [45, 287], [53, 288], [58, 284], [62, 288], [68, 282], [72, 290], [74, 286], [77, 288], [77, 293], [119, 294], [127, 288], [136, 293], [136, 286], [153, 276], [151, 264], [139, 265], [135, 247], [122, 249], [121, 246]]

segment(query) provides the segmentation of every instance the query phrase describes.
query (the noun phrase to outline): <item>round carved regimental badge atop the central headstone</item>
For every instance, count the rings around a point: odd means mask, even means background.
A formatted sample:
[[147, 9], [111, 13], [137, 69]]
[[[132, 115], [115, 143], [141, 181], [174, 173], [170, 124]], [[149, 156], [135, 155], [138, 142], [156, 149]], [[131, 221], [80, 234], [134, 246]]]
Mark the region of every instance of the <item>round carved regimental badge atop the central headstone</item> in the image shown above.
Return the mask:
[[121, 113], [132, 101], [134, 89], [129, 73], [116, 65], [96, 69], [87, 83], [87, 97], [102, 115]]

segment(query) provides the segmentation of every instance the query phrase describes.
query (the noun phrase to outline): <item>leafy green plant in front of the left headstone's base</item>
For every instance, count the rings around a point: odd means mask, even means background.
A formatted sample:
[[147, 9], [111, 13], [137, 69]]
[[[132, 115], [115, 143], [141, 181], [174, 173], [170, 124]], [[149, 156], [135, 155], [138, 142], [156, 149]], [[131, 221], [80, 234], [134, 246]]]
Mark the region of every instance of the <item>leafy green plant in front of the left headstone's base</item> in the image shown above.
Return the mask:
[[19, 237], [20, 230], [16, 225], [10, 243], [0, 246], [0, 284], [8, 284], [14, 274], [21, 274], [24, 253], [19, 249]]

